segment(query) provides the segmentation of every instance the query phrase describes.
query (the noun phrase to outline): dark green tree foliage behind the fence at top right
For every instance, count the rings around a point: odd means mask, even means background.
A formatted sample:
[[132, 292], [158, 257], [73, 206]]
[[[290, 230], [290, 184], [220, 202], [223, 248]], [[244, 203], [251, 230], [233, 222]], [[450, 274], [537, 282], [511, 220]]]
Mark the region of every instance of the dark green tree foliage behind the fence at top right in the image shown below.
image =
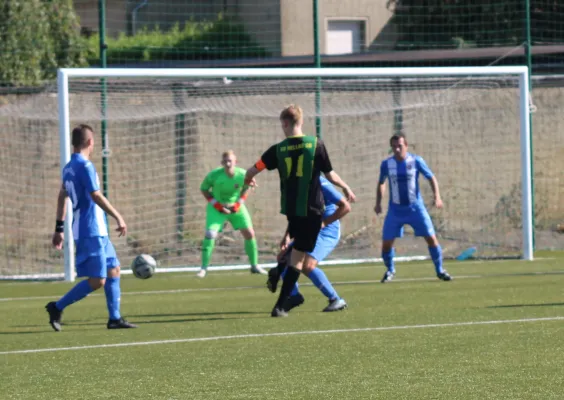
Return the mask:
[[[526, 40], [524, 0], [389, 0], [411, 49], [518, 46]], [[563, 0], [531, 0], [534, 44], [564, 41]]]

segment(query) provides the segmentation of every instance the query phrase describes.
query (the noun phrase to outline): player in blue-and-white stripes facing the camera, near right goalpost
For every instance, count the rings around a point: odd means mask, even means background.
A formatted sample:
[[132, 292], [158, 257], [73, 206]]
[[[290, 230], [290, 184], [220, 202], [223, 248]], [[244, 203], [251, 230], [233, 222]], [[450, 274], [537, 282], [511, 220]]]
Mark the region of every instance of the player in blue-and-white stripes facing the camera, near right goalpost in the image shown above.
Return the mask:
[[437, 277], [443, 281], [450, 281], [452, 277], [443, 268], [443, 252], [435, 235], [435, 228], [419, 192], [419, 174], [423, 174], [431, 184], [435, 195], [434, 205], [443, 207], [439, 183], [427, 166], [423, 158], [408, 153], [407, 139], [403, 133], [391, 137], [390, 146], [394, 155], [384, 160], [380, 166], [380, 178], [376, 190], [376, 215], [382, 212], [382, 196], [386, 180], [389, 182], [390, 203], [384, 220], [382, 233], [382, 258], [387, 271], [381, 282], [386, 283], [394, 279], [394, 240], [403, 236], [403, 226], [411, 225], [415, 236], [423, 236], [429, 246], [429, 253]]

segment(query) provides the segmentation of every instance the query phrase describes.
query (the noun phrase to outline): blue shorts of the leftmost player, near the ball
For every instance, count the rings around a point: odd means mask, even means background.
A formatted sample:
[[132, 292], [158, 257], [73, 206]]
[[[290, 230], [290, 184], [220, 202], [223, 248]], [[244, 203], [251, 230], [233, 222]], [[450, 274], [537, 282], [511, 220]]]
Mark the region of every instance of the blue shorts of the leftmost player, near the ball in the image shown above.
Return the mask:
[[76, 276], [106, 278], [108, 269], [119, 267], [114, 245], [107, 236], [80, 239], [76, 242]]

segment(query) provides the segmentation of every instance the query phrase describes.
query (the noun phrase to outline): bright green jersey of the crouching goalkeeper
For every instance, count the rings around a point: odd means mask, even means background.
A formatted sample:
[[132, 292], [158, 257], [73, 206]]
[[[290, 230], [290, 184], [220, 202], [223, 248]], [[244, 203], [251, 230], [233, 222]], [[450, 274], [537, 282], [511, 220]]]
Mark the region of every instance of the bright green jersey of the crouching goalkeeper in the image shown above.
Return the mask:
[[214, 199], [221, 204], [232, 204], [239, 200], [245, 185], [245, 171], [235, 167], [235, 174], [231, 177], [225, 173], [223, 167], [211, 171], [203, 180], [200, 189], [209, 191]]

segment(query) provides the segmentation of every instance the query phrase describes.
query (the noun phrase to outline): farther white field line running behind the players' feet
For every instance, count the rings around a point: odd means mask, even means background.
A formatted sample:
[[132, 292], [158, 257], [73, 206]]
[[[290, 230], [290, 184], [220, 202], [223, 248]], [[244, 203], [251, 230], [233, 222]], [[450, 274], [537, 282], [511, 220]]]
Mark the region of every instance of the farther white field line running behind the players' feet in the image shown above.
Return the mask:
[[[527, 272], [527, 273], [507, 273], [507, 274], [476, 274], [476, 275], [455, 275], [454, 280], [459, 279], [479, 279], [479, 278], [491, 278], [491, 277], [501, 277], [501, 276], [519, 276], [522, 274], [527, 275], [560, 275], [564, 274], [564, 271], [548, 271], [548, 272]], [[435, 277], [423, 277], [423, 278], [395, 278], [392, 282], [387, 283], [394, 284], [400, 282], [426, 282], [426, 281], [436, 281], [437, 278]], [[380, 283], [380, 279], [374, 280], [362, 280], [362, 281], [335, 281], [332, 282], [333, 285], [364, 285], [369, 283]], [[300, 282], [300, 286], [313, 286], [312, 283]], [[234, 287], [218, 287], [218, 288], [195, 288], [195, 289], [170, 289], [170, 290], [147, 290], [147, 291], [138, 291], [138, 292], [122, 292], [122, 296], [138, 296], [138, 295], [152, 295], [152, 294], [174, 294], [174, 293], [191, 293], [191, 292], [223, 292], [223, 291], [230, 291], [230, 290], [249, 290], [249, 289], [263, 289], [265, 285], [260, 286], [234, 286]], [[94, 293], [89, 295], [88, 297], [97, 297], [97, 296], [105, 296], [102, 293]], [[9, 302], [9, 301], [28, 301], [28, 300], [53, 300], [58, 295], [53, 296], [31, 296], [31, 297], [0, 297], [1, 302]]]

